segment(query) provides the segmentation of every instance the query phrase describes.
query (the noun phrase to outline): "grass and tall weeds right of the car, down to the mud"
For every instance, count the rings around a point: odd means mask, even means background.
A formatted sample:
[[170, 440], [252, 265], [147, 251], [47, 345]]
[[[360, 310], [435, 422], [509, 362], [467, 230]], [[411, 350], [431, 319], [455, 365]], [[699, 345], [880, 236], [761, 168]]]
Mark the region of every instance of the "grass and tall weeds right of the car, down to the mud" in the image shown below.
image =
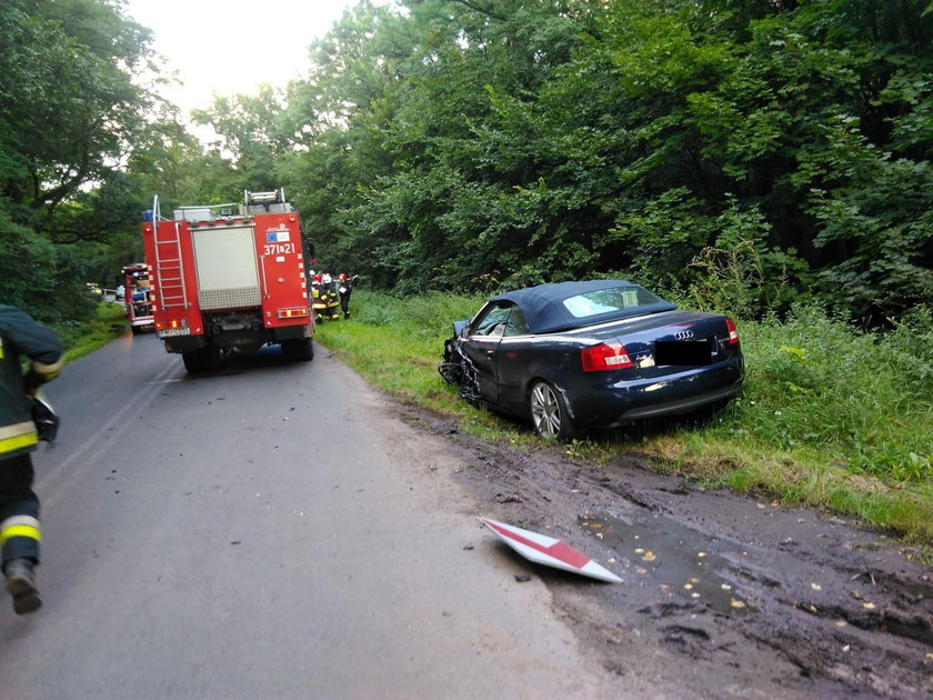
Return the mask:
[[649, 453], [740, 490], [776, 493], [933, 542], [933, 326], [920, 309], [885, 333], [822, 310], [740, 326], [743, 394]]

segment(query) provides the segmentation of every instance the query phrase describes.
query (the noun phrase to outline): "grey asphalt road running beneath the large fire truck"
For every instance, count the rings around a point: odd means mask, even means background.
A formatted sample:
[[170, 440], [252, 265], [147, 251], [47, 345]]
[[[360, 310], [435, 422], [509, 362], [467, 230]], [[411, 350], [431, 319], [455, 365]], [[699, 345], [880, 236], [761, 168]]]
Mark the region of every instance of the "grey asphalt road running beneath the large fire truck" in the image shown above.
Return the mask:
[[0, 599], [0, 698], [625, 694], [443, 442], [317, 350], [192, 379], [127, 334], [48, 387], [44, 606]]

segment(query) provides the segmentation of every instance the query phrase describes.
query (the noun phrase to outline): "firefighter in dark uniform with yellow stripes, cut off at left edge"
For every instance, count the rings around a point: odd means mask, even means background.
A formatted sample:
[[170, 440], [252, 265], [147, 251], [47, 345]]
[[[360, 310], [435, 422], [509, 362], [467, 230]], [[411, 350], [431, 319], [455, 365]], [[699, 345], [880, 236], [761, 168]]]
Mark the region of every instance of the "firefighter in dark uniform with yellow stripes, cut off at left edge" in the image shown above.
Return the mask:
[[[54, 332], [23, 311], [0, 304], [0, 550], [13, 610], [39, 609], [39, 499], [32, 490], [32, 460], [39, 436], [29, 394], [61, 369], [62, 344]], [[23, 374], [21, 357], [30, 368]]]

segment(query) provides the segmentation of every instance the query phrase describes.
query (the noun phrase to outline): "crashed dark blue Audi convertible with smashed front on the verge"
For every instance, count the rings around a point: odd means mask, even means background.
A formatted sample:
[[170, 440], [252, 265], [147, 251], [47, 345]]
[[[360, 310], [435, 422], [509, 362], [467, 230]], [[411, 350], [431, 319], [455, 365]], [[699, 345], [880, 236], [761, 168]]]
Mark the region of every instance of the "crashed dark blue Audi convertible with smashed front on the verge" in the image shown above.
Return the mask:
[[541, 284], [457, 321], [441, 376], [544, 438], [688, 413], [742, 389], [731, 319], [683, 311], [624, 280]]

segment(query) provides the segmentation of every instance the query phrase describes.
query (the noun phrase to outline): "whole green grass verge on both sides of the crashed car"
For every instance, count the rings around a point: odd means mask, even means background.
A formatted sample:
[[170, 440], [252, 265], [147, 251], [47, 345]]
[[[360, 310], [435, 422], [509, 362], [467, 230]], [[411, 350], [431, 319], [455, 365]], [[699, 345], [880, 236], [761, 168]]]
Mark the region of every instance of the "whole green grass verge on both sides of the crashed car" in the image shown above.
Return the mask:
[[[526, 427], [466, 404], [438, 374], [452, 321], [470, 318], [482, 301], [358, 290], [353, 317], [320, 324], [318, 338], [383, 391], [459, 417], [464, 432], [540, 449]], [[740, 333], [745, 391], [723, 410], [553, 449], [595, 464], [636, 449], [659, 470], [855, 516], [923, 550], [933, 544], [930, 310], [884, 334], [812, 308], [783, 322], [741, 323]]]

